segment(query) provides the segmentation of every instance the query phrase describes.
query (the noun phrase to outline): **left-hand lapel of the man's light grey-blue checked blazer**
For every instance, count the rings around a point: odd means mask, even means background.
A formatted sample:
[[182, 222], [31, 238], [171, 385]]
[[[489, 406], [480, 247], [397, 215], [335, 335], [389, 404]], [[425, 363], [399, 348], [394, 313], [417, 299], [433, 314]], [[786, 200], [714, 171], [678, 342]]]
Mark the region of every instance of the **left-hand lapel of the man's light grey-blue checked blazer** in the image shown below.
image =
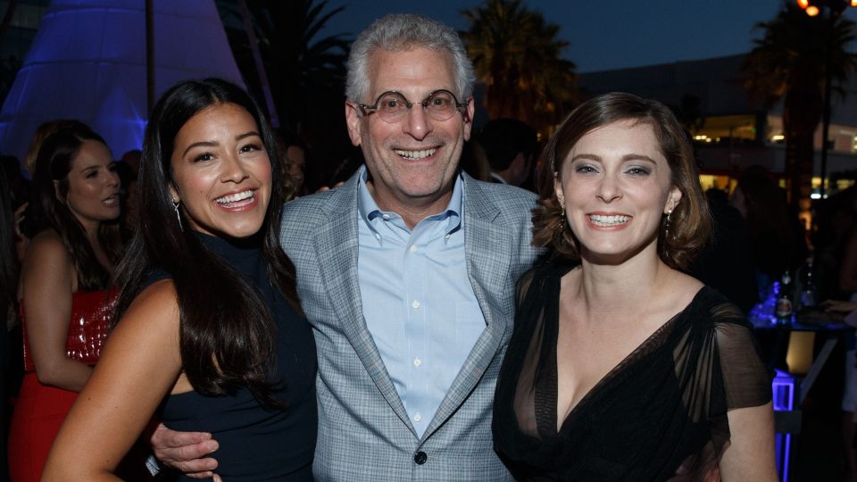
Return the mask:
[[328, 222], [320, 224], [314, 232], [321, 279], [345, 337], [354, 347], [381, 395], [416, 436], [363, 318], [357, 274], [357, 188], [361, 173], [362, 170], [358, 171], [343, 186], [337, 187], [337, 195], [331, 196], [330, 203], [321, 208], [328, 217]]

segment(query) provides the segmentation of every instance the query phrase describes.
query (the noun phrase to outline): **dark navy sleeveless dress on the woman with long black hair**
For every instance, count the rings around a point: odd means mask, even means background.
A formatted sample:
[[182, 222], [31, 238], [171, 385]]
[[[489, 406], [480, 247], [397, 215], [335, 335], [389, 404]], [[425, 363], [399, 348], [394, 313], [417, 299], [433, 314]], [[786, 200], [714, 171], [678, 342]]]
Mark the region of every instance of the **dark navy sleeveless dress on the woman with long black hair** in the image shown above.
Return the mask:
[[[236, 395], [224, 396], [187, 392], [167, 396], [158, 414], [171, 430], [211, 432], [220, 444], [211, 455], [218, 461], [214, 473], [227, 482], [312, 482], [312, 457], [318, 435], [318, 361], [312, 328], [270, 283], [259, 248], [239, 248], [220, 237], [196, 234], [203, 245], [245, 276], [268, 306], [277, 325], [278, 367], [273, 379], [284, 382], [275, 395], [287, 403], [282, 409], [270, 410], [246, 388], [240, 388]], [[156, 270], [148, 284], [164, 278], [171, 276]], [[185, 476], [180, 479], [196, 480]]]

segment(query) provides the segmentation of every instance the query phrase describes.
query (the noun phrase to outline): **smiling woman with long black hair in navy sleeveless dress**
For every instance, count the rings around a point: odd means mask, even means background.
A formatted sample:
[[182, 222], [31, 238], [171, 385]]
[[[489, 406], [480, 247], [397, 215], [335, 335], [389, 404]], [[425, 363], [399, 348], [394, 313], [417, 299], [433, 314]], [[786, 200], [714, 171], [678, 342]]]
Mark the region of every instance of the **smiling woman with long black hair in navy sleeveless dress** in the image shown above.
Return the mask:
[[225, 480], [312, 480], [315, 342], [279, 245], [279, 159], [258, 105], [225, 80], [180, 82], [155, 105], [119, 321], [46, 479], [114, 480], [157, 412], [212, 433]]

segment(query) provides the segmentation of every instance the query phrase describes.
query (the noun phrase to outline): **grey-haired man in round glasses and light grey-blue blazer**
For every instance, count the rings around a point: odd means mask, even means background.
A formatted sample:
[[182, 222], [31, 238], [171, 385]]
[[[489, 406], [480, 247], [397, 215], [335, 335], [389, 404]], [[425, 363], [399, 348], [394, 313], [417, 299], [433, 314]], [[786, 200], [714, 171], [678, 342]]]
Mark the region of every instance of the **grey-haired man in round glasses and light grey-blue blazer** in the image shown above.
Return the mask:
[[[318, 345], [314, 476], [511, 480], [491, 413], [515, 283], [536, 255], [535, 196], [458, 170], [474, 74], [453, 29], [388, 15], [348, 65], [345, 117], [366, 166], [287, 204], [282, 233]], [[175, 461], [214, 445], [164, 450], [191, 438], [162, 430], [156, 453]]]

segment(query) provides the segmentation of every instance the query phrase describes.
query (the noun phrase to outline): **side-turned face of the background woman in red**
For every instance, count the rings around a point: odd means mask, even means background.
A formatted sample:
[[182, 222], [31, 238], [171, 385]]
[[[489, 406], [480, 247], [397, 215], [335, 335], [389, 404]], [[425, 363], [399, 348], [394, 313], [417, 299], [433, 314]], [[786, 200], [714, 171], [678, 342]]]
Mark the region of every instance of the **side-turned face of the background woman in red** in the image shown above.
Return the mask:
[[[60, 181], [54, 181], [59, 187]], [[86, 139], [71, 161], [66, 204], [88, 229], [119, 217], [119, 175], [106, 145]], [[61, 193], [57, 195], [62, 199]]]

